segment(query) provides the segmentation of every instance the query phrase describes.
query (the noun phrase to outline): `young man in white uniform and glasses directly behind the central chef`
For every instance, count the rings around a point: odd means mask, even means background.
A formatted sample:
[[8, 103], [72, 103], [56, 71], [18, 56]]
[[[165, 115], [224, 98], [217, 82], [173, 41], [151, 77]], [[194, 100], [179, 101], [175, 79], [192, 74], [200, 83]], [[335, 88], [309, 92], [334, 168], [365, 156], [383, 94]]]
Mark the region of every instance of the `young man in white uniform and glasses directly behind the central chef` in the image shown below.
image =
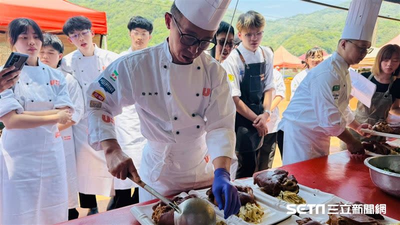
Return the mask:
[[[129, 19], [127, 28], [131, 39], [131, 46], [120, 55], [141, 50], [147, 47], [153, 31], [152, 23], [141, 16], [133, 16]], [[122, 108], [122, 113], [115, 116], [116, 136], [119, 145], [133, 160], [137, 171], [140, 168], [141, 153], [146, 144], [146, 138], [141, 135], [140, 121], [134, 104]], [[133, 195], [130, 188], [134, 187]], [[111, 198], [107, 210], [123, 207], [139, 202], [139, 186], [130, 179], [118, 179], [114, 177], [115, 196]]]

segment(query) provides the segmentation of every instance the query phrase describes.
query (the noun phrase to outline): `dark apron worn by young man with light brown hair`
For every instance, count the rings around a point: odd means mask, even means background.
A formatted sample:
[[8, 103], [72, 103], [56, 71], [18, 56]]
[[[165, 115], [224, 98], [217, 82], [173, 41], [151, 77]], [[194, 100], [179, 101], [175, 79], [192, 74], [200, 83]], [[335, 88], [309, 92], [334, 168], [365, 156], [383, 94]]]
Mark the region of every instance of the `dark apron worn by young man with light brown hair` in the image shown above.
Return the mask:
[[[261, 48], [261, 47], [260, 47]], [[240, 60], [244, 64], [244, 76], [240, 82], [240, 99], [257, 115], [264, 112], [264, 74], [265, 74], [265, 55], [261, 48], [263, 62], [246, 64], [243, 55], [239, 53]], [[253, 121], [236, 112], [235, 132], [236, 132], [236, 152], [255, 151], [262, 145], [262, 136], [258, 136], [257, 129], [252, 125]]]

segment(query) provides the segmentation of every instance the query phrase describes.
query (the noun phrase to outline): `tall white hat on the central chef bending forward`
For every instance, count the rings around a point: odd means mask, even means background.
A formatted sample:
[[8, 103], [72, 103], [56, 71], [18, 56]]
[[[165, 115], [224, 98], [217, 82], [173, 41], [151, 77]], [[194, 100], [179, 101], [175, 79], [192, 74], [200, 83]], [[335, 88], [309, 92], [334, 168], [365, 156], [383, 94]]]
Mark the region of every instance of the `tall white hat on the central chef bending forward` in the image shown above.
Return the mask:
[[229, 3], [230, 0], [175, 0], [184, 17], [205, 30], [218, 29]]

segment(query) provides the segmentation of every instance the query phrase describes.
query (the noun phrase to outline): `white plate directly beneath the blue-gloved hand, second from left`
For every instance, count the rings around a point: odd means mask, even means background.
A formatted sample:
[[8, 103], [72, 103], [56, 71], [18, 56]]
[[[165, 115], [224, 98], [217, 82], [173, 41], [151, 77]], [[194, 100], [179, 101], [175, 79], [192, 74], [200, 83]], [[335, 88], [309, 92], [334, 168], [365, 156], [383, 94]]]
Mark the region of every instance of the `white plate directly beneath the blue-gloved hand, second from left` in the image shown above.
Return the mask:
[[[190, 190], [189, 194], [196, 194], [197, 196], [200, 196], [204, 199], [206, 199], [210, 205], [212, 205], [215, 209], [215, 213], [217, 216], [220, 216], [223, 218], [223, 210], [219, 210], [219, 208], [217, 206], [215, 206], [212, 202], [210, 202], [208, 200], [207, 195], [205, 194], [205, 192], [208, 190], [207, 189], [201, 189], [201, 190]], [[255, 196], [255, 195], [254, 195]], [[269, 225], [269, 224], [275, 224], [279, 221], [282, 221], [288, 217], [290, 217], [290, 214], [286, 214], [286, 208], [280, 207], [278, 202], [270, 202], [270, 203], [264, 203], [262, 201], [260, 201], [256, 196], [255, 196], [255, 200], [257, 201], [258, 205], [264, 209], [264, 216], [261, 220], [260, 225]], [[250, 222], [246, 222], [243, 219], [235, 216], [235, 215], [231, 215], [226, 219], [227, 222], [229, 222], [228, 224], [255, 224], [255, 223], [250, 223]]]

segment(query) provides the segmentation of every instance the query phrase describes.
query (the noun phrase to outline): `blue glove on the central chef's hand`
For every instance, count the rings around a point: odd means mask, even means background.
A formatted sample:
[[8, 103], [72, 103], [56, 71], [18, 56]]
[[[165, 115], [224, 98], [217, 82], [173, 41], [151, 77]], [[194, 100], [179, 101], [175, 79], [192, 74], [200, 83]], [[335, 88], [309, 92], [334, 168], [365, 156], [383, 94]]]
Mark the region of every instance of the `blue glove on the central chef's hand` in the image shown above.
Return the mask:
[[[236, 214], [240, 209], [240, 200], [237, 189], [230, 183], [229, 172], [224, 168], [217, 168], [214, 171], [214, 182], [212, 183], [212, 193], [218, 203], [219, 210], [223, 207], [223, 217], [226, 219], [232, 214]], [[222, 200], [225, 198], [225, 202]]]

